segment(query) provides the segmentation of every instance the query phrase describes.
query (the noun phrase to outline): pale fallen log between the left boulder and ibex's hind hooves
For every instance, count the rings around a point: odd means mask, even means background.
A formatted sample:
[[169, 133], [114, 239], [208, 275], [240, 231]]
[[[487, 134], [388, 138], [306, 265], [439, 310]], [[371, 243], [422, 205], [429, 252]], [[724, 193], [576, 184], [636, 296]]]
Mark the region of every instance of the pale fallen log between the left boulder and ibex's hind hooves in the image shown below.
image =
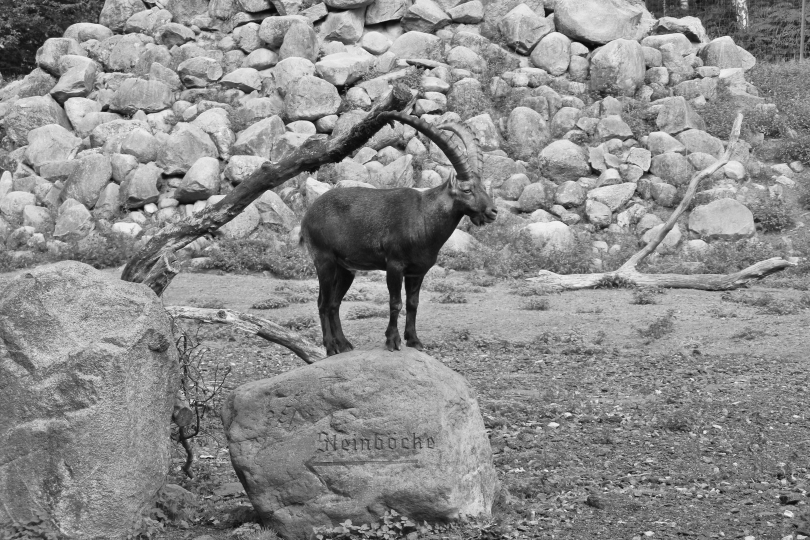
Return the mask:
[[326, 358], [326, 350], [301, 335], [288, 330], [273, 321], [256, 317], [249, 313], [239, 313], [231, 309], [190, 308], [188, 306], [166, 306], [169, 317], [193, 319], [215, 325], [231, 325], [250, 334], [256, 334], [267, 341], [287, 347], [307, 364]]

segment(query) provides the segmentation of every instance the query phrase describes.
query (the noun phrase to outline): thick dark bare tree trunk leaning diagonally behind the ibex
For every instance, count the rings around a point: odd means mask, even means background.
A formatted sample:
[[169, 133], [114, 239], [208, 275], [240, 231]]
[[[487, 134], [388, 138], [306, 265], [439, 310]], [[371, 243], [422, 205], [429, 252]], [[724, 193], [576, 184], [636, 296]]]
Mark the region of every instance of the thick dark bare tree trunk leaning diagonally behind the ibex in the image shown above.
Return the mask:
[[220, 202], [160, 230], [126, 264], [121, 279], [146, 283], [158, 296], [179, 270], [175, 252], [204, 234], [214, 232], [235, 218], [267, 189], [275, 188], [305, 171], [340, 161], [360, 148], [386, 124], [384, 111], [399, 111], [411, 101], [411, 89], [398, 83], [371, 108], [363, 120], [339, 137], [313, 136], [278, 163], [266, 161]]

